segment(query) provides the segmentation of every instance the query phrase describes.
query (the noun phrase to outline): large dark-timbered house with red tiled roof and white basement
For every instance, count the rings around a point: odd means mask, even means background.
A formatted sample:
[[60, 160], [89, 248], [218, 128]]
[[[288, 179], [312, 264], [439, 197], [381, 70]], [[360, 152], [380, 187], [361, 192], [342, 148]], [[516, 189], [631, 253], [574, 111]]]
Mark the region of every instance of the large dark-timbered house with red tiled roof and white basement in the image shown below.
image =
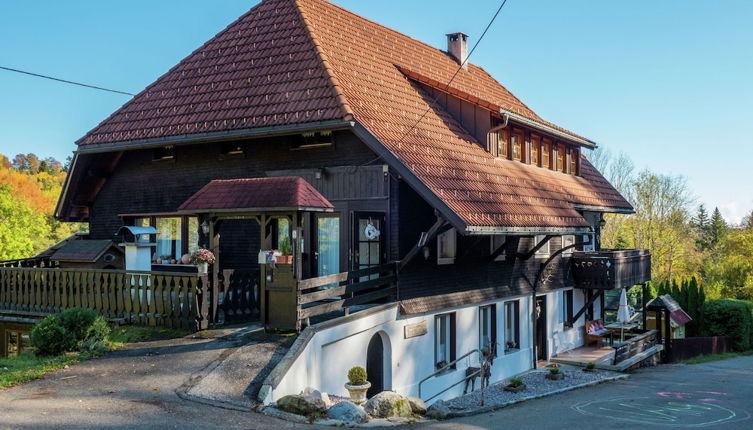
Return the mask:
[[355, 364], [373, 391], [427, 400], [490, 350], [493, 380], [535, 367], [601, 316], [609, 287], [578, 288], [570, 259], [633, 209], [585, 157], [594, 142], [467, 44], [264, 0], [77, 141], [56, 216], [91, 240], [154, 227], [147, 271], [195, 273], [186, 254], [212, 249], [206, 282], [254, 308], [226, 316], [299, 330], [344, 308], [304, 331], [265, 400], [342, 393]]

